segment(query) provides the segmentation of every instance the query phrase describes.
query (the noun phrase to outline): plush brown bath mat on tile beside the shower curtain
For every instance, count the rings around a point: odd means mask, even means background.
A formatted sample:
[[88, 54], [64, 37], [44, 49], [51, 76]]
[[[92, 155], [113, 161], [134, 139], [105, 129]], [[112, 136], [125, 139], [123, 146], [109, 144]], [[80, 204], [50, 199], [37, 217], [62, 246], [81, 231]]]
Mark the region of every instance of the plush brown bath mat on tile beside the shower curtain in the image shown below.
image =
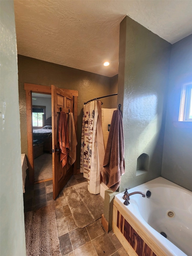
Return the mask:
[[87, 182], [65, 188], [63, 194], [77, 227], [86, 227], [104, 213], [104, 200], [100, 194], [90, 194]]

